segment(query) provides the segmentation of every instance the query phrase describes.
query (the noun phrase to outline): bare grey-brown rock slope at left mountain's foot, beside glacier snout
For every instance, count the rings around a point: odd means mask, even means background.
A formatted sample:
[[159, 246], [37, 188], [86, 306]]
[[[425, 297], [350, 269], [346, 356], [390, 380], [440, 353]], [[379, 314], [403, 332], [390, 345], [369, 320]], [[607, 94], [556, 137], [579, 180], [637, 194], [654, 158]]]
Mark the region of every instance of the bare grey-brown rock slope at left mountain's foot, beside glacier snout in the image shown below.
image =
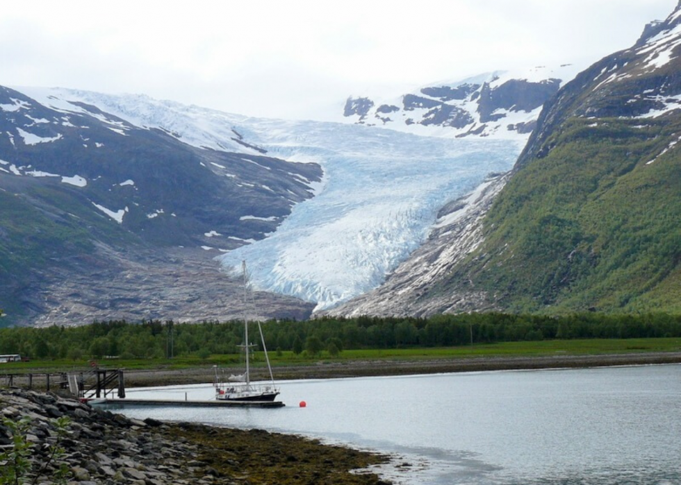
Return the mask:
[[256, 291], [243, 300], [240, 278], [220, 271], [201, 249], [128, 250], [99, 244], [67, 269], [43, 273], [27, 289], [35, 326], [86, 325], [94, 320], [230, 321], [308, 318], [314, 307], [297, 298]]

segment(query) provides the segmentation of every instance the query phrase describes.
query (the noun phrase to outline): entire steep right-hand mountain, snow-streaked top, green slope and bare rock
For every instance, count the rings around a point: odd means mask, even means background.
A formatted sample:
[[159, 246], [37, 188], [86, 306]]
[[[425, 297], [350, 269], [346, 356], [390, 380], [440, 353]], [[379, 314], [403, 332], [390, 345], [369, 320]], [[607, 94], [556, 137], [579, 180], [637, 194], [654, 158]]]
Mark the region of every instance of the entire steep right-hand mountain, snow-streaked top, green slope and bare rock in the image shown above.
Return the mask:
[[548, 101], [468, 226], [334, 312], [681, 311], [680, 46], [681, 4]]

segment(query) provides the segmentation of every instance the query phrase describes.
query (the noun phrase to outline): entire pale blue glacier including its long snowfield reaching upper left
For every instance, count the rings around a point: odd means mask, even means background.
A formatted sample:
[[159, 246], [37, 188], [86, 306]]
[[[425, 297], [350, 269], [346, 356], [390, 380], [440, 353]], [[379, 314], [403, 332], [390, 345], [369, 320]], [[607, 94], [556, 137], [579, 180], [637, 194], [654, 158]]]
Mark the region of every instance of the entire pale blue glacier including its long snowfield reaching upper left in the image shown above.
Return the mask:
[[[445, 203], [475, 189], [489, 173], [511, 169], [527, 142], [527, 136], [433, 137], [352, 124], [257, 119], [140, 95], [17, 90], [65, 113], [83, 110], [74, 101], [95, 105], [131, 125], [161, 128], [199, 148], [265, 149], [272, 157], [320, 164], [322, 182], [306, 181], [313, 198], [295, 205], [265, 239], [243, 241], [244, 246], [216, 258], [227, 271], [240, 271], [246, 260], [255, 289], [302, 298], [316, 303], [315, 310], [381, 284], [427, 239]], [[122, 128], [120, 121], [104, 119]], [[235, 135], [248, 145], [236, 142]]]

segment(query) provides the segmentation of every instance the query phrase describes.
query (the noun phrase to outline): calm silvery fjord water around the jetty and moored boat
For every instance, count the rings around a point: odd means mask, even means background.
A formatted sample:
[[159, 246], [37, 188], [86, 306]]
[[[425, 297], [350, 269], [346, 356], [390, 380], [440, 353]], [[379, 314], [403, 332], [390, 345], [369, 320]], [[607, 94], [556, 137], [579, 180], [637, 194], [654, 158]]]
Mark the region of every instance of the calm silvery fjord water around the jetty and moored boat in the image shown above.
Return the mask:
[[[681, 483], [679, 365], [288, 381], [281, 391], [281, 409], [122, 412], [388, 452], [382, 472], [400, 484]], [[212, 395], [202, 385], [128, 397]]]

